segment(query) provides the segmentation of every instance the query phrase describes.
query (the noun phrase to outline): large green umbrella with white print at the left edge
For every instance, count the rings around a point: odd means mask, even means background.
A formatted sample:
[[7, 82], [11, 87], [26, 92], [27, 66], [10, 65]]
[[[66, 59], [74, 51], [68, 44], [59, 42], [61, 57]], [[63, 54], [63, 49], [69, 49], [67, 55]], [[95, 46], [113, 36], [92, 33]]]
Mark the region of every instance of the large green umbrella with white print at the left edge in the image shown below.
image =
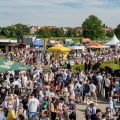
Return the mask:
[[0, 59], [0, 72], [16, 71], [16, 70], [29, 70], [31, 66], [24, 65], [18, 62]]

